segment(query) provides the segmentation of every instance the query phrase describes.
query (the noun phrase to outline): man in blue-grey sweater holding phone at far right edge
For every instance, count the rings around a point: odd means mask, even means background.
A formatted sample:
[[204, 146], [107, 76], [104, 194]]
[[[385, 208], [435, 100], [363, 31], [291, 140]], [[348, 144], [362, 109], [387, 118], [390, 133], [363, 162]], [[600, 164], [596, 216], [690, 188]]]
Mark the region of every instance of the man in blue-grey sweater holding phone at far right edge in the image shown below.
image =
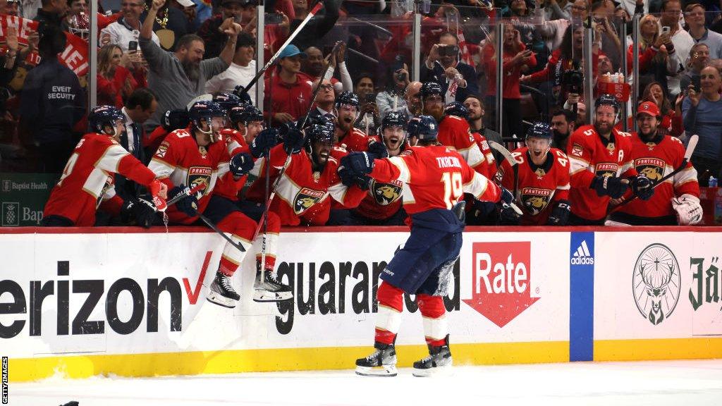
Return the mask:
[[682, 102], [682, 118], [687, 134], [697, 134], [700, 141], [692, 155], [700, 184], [706, 185], [710, 175], [718, 178], [722, 167], [722, 76], [715, 66], [700, 72], [700, 88], [687, 87]]

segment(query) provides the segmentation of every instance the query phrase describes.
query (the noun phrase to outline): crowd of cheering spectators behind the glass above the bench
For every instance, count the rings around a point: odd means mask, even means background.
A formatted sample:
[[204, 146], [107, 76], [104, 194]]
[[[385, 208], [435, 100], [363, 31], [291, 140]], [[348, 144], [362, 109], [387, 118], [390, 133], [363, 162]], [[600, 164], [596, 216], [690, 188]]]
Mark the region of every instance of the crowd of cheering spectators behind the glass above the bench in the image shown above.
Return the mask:
[[[147, 137], [167, 111], [186, 108], [207, 93], [232, 92], [256, 74], [256, 2], [253, 0], [100, 1], [99, 27], [90, 29], [90, 0], [0, 0], [0, 14], [35, 20], [19, 33], [3, 22], [0, 56], [0, 168], [4, 172], [59, 173], [87, 130], [88, 83], [97, 104], [126, 114], [123, 146], [147, 162]], [[599, 82], [625, 70], [623, 82], [638, 100], [658, 105], [661, 127], [674, 137], [699, 134], [692, 163], [706, 186], [722, 166], [722, 11], [708, 0], [442, 0], [422, 16], [419, 81], [413, 81], [412, 2], [321, 0], [323, 8], [279, 55], [264, 80], [258, 108], [268, 126], [296, 121], [312, 107], [337, 116], [336, 96], [355, 92], [355, 126], [378, 134], [384, 116], [422, 113], [419, 89], [437, 82], [443, 102], [469, 110], [470, 129], [487, 139], [523, 139], [530, 121], [554, 129], [565, 149], [586, 122], [580, 72], [591, 56], [594, 97]], [[266, 1], [264, 57], [276, 53], [315, 5], [308, 0]], [[422, 11], [423, 10], [423, 7]], [[638, 43], [632, 24], [640, 14]], [[497, 50], [495, 21], [505, 22]], [[593, 28], [584, 49], [584, 27]], [[23, 27], [21, 25], [20, 27]], [[23, 29], [24, 30], [24, 29]], [[72, 35], [98, 35], [97, 76], [78, 74], [56, 56]], [[627, 49], [622, 49], [622, 38]], [[339, 45], [340, 44], [340, 45]], [[638, 47], [638, 81], [632, 56]], [[622, 69], [627, 53], [627, 69]], [[503, 72], [497, 72], [497, 57]], [[39, 61], [39, 62], [38, 62]], [[326, 66], [331, 66], [331, 74]], [[87, 69], [86, 69], [87, 70]], [[503, 94], [496, 94], [503, 74]], [[320, 86], [312, 106], [314, 86]], [[690, 92], [690, 90], [694, 90]], [[256, 90], [249, 90], [256, 103]], [[52, 96], [52, 97], [51, 97]], [[496, 122], [497, 98], [503, 115]], [[629, 109], [632, 111], [632, 108]], [[632, 126], [633, 118], [617, 124]], [[501, 126], [501, 129], [499, 127]], [[503, 138], [504, 137], [504, 138]], [[513, 144], [509, 144], [513, 147]], [[152, 151], [150, 151], [152, 153]]]

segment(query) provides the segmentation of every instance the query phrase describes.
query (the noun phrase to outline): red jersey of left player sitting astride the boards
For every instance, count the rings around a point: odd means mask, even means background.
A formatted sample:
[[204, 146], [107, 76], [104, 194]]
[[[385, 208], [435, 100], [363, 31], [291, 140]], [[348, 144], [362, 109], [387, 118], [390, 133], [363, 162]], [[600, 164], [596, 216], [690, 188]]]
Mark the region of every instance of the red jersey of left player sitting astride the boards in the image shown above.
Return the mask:
[[[206, 185], [203, 196], [198, 199], [198, 210], [203, 212], [219, 176], [230, 176], [229, 159], [225, 139], [200, 147], [190, 129], [178, 129], [160, 143], [148, 166], [168, 185], [169, 191], [181, 183], [191, 188], [199, 184]], [[166, 212], [173, 223], [191, 224], [198, 219], [178, 211], [175, 205], [168, 207]]]

